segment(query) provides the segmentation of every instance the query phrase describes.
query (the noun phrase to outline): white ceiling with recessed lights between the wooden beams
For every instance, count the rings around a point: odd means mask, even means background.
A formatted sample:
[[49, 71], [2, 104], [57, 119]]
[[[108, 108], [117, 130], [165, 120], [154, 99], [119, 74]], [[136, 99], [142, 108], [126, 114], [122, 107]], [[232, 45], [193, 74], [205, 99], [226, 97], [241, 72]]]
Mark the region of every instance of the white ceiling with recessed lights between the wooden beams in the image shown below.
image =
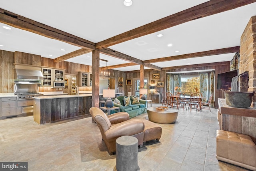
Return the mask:
[[[127, 7], [123, 5], [123, 0], [1, 0], [0, 8], [97, 43], [204, 2], [206, 1], [133, 0], [132, 6]], [[150, 60], [240, 46], [240, 36], [250, 17], [256, 16], [255, 9], [256, 3], [252, 3], [109, 48], [140, 60]], [[2, 28], [4, 25], [6, 24], [0, 23], [0, 45], [4, 45], [0, 46], [1, 50], [26, 52], [54, 59], [80, 49], [80, 47], [17, 28], [12, 27], [12, 30], [6, 30]], [[159, 33], [164, 36], [158, 38], [156, 35]], [[172, 46], [168, 47], [167, 44]], [[67, 61], [92, 65], [91, 56], [92, 54], [88, 53]], [[164, 68], [230, 61], [233, 56], [234, 53], [152, 64]], [[100, 54], [100, 58], [108, 60], [108, 66], [128, 63], [104, 54]], [[100, 65], [106, 66], [106, 62], [100, 61]], [[139, 69], [140, 66], [130, 66], [115, 70]], [[148, 68], [145, 67], [145, 69]]]

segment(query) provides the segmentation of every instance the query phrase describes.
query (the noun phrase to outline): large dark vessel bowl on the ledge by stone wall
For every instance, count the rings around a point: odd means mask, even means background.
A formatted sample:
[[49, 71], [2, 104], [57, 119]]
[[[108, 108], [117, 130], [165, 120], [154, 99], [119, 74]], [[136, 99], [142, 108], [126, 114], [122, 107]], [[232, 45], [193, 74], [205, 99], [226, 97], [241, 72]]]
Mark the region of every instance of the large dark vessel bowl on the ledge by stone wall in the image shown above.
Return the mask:
[[231, 107], [246, 108], [252, 104], [254, 91], [224, 91], [226, 104]]

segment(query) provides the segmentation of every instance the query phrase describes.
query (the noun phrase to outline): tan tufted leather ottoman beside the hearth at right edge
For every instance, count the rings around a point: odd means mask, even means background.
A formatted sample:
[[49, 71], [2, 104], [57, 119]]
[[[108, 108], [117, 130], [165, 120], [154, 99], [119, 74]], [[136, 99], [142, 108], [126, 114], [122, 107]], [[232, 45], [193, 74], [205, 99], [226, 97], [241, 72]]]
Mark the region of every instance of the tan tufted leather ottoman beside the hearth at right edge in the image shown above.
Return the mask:
[[248, 135], [217, 130], [216, 157], [218, 160], [256, 171], [256, 145]]

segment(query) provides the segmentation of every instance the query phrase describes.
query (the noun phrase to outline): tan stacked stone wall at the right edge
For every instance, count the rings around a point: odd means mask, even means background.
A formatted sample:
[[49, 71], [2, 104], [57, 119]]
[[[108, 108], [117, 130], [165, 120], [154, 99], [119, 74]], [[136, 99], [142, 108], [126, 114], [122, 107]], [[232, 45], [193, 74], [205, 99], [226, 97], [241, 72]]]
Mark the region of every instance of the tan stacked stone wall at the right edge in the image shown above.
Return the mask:
[[[256, 16], [250, 18], [240, 43], [239, 74], [248, 71], [248, 91], [256, 91]], [[251, 107], [256, 108], [256, 93]]]

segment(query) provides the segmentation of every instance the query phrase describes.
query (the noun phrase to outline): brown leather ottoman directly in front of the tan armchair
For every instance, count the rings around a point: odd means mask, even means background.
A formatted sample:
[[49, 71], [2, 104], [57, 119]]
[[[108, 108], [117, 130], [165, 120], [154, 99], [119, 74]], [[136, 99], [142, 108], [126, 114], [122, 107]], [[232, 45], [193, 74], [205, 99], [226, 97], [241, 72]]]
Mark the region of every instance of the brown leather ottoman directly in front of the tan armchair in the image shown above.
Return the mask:
[[146, 119], [142, 119], [144, 122], [144, 138], [143, 142], [150, 141], [153, 139], [156, 139], [156, 141], [159, 141], [161, 135], [162, 135], [162, 127], [160, 127], [158, 124], [148, 121]]

